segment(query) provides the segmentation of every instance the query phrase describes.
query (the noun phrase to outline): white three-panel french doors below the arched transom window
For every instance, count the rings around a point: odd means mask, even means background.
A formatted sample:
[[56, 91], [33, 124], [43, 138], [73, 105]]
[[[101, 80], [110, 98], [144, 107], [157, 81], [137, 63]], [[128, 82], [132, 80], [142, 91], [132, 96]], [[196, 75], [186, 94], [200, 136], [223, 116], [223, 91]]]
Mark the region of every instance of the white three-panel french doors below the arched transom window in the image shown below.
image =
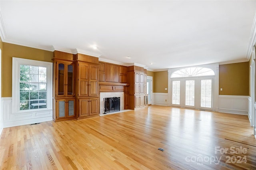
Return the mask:
[[172, 106], [212, 110], [212, 77], [172, 79]]

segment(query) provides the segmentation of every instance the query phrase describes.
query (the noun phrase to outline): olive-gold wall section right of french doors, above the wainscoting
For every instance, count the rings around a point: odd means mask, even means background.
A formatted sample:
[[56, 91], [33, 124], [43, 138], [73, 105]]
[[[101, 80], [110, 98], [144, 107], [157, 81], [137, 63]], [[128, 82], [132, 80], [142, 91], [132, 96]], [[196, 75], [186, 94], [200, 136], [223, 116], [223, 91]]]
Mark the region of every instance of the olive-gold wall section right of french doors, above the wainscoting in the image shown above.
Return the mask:
[[219, 66], [220, 95], [249, 95], [249, 61]]

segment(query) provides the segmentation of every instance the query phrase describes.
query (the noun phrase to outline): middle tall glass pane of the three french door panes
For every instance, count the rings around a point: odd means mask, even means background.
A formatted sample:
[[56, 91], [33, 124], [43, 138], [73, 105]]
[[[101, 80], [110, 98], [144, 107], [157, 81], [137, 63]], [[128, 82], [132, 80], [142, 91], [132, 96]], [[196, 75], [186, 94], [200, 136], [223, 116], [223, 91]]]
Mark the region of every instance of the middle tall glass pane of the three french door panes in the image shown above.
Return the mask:
[[195, 105], [195, 81], [186, 80], [186, 106]]

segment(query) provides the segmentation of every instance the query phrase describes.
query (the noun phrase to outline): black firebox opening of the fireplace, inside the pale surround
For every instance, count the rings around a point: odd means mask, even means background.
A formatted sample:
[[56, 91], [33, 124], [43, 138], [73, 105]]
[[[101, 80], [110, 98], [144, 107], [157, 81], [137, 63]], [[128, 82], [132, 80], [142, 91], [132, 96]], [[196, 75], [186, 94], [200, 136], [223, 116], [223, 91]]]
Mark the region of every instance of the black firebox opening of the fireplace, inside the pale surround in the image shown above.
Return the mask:
[[120, 97], [107, 97], [104, 101], [104, 114], [120, 111]]

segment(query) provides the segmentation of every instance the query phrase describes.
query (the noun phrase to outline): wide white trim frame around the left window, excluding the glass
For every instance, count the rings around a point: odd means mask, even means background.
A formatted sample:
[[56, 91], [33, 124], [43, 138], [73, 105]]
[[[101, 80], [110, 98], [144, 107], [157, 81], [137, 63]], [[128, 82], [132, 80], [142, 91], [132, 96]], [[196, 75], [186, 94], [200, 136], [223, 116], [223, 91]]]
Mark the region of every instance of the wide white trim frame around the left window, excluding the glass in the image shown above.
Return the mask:
[[[47, 108], [20, 111], [20, 65], [34, 65], [47, 68]], [[51, 62], [12, 57], [12, 113], [30, 113], [52, 110], [52, 73], [53, 69]]]

